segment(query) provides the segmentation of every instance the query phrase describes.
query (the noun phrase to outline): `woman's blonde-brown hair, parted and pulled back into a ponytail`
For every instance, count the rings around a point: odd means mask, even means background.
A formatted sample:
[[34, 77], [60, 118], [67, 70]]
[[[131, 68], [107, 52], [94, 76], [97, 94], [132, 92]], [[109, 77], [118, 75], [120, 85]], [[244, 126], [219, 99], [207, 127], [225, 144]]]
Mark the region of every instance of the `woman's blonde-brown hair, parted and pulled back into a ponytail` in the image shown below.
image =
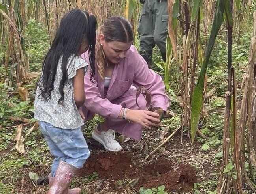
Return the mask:
[[105, 76], [106, 57], [102, 46], [100, 45], [100, 34], [104, 35], [106, 42], [117, 41], [122, 43], [129, 43], [133, 41], [132, 26], [123, 17], [112, 16], [109, 17], [96, 32], [96, 46], [95, 56], [97, 70], [100, 78], [103, 80]]

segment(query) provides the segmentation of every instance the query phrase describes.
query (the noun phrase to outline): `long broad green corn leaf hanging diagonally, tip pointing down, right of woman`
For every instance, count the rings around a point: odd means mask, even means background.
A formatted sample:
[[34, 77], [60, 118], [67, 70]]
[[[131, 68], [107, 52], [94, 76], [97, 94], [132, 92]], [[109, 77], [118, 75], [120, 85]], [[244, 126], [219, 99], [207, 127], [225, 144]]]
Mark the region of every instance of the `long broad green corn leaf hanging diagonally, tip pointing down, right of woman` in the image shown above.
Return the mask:
[[209, 63], [211, 51], [213, 50], [213, 45], [215, 43], [215, 39], [218, 35], [220, 27], [223, 23], [223, 13], [224, 13], [224, 5], [222, 0], [218, 0], [216, 2], [216, 10], [213, 19], [213, 26], [211, 28], [211, 34], [209, 37], [209, 42], [205, 51], [205, 56], [203, 58], [203, 65], [198, 77], [198, 82], [191, 97], [191, 115], [190, 115], [190, 123], [191, 123], [191, 140], [194, 142], [196, 131], [198, 129], [198, 123], [200, 119], [201, 108], [203, 104], [203, 86], [205, 80], [206, 69]]

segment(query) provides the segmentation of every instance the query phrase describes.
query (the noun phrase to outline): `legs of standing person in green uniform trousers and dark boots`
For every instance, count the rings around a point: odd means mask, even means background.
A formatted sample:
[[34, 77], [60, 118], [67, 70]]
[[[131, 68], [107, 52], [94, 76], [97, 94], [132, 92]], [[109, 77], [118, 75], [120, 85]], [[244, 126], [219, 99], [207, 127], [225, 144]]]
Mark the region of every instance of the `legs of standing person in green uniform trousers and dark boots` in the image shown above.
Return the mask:
[[141, 56], [148, 63], [152, 63], [152, 50], [155, 45], [160, 49], [162, 58], [166, 62], [166, 37], [168, 34], [167, 0], [140, 0], [143, 4], [139, 19], [138, 33]]

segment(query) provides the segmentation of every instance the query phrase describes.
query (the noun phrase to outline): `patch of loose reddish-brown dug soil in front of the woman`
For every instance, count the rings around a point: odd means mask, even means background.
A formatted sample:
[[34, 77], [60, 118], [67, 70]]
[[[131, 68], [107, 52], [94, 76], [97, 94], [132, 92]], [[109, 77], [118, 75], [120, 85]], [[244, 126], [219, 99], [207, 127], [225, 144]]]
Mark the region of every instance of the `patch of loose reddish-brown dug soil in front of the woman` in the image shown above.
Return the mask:
[[[170, 160], [159, 159], [151, 164], [143, 164], [127, 153], [98, 153], [92, 155], [80, 171], [80, 176], [98, 172], [99, 179], [114, 180], [110, 187], [119, 190], [117, 180], [135, 179], [135, 188], [157, 188], [165, 185], [166, 190], [188, 192], [196, 183], [196, 172], [188, 164], [180, 164], [173, 170]], [[123, 185], [124, 186], [124, 185]]]

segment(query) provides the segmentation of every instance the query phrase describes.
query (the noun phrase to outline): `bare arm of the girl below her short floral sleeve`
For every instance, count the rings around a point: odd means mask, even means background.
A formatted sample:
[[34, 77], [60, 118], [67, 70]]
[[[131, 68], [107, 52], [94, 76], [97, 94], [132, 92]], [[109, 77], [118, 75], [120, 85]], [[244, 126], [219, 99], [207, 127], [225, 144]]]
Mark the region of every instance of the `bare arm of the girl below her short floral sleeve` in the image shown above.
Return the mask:
[[74, 83], [74, 99], [77, 108], [83, 106], [85, 103], [85, 90], [84, 90], [84, 76], [85, 67], [77, 69], [76, 75], [73, 78]]

